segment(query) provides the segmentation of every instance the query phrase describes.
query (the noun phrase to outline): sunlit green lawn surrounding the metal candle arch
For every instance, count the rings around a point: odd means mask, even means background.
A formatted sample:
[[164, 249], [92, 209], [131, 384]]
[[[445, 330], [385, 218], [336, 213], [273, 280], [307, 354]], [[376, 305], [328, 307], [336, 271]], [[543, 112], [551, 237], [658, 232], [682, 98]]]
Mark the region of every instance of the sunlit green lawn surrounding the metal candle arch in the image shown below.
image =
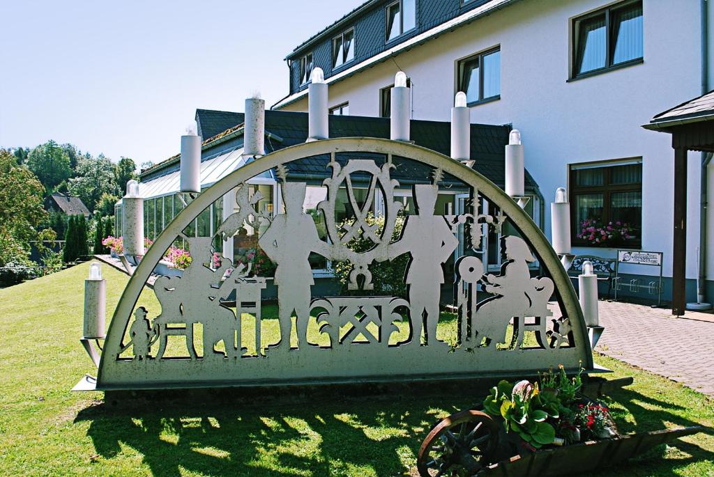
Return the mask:
[[[0, 290], [0, 475], [394, 476], [429, 426], [479, 396], [343, 399], [116, 410], [69, 391], [91, 361], [79, 344], [88, 265]], [[104, 267], [113, 310], [126, 276]], [[153, 293], [141, 298], [158, 307]], [[111, 313], [108, 313], [111, 315]], [[714, 403], [607, 357], [635, 376], [613, 394], [620, 431], [714, 424]], [[236, 391], [238, 392], [238, 391]], [[601, 476], [714, 476], [711, 430]]]

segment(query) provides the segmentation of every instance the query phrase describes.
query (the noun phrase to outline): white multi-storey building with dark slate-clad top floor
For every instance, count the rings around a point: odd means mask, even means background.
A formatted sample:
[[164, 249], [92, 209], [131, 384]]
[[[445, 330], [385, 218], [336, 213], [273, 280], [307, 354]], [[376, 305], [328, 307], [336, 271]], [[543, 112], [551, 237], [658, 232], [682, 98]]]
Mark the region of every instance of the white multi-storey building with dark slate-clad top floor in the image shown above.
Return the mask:
[[[454, 2], [442, 21], [420, 26], [428, 12]], [[384, 88], [397, 71], [411, 83], [413, 119], [448, 121], [454, 94], [466, 91], [472, 123], [511, 123], [521, 131], [526, 168], [545, 202], [556, 188], [568, 188], [574, 252], [610, 258], [617, 248], [663, 252], [663, 297], [669, 299], [673, 150], [670, 135], [641, 125], [714, 86], [714, 45], [707, 51], [714, 36], [706, 32], [714, 31], [714, 6], [708, 3], [370, 1], [288, 56], [291, 94], [273, 108], [307, 111], [301, 83], [312, 66], [326, 71], [335, 113], [353, 116], [388, 113]], [[361, 42], [370, 50], [361, 51]], [[375, 48], [379, 42], [383, 46]], [[320, 64], [325, 44], [332, 58]], [[702, 160], [700, 153], [688, 159], [688, 301], [696, 299]], [[711, 165], [707, 176], [714, 190]], [[550, 236], [548, 207], [544, 214]], [[708, 215], [711, 300], [714, 214]], [[578, 237], [583, 220], [628, 222], [629, 238], [617, 246], [591, 246], [588, 237]]]

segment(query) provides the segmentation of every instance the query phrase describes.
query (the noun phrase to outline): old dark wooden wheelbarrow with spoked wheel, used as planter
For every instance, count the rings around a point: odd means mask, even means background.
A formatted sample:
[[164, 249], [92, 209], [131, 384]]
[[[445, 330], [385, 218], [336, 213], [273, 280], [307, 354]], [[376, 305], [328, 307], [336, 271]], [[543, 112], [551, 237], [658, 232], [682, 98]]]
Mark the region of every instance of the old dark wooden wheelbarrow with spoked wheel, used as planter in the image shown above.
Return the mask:
[[[600, 395], [632, 384], [632, 378], [594, 381], [583, 391]], [[584, 394], [584, 393], [583, 393]], [[666, 429], [543, 448], [508, 457], [503, 424], [475, 409], [442, 419], [424, 439], [417, 468], [422, 477], [572, 476], [612, 466], [661, 443], [696, 434], [702, 426]]]

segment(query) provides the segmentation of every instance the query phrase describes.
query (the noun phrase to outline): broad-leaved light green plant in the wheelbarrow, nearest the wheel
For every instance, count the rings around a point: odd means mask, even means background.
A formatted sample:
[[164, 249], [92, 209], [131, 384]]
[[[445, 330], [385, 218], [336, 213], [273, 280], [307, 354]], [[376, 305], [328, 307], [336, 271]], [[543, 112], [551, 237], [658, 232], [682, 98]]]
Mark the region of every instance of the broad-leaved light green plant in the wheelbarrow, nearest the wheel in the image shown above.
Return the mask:
[[557, 395], [541, 396], [538, 383], [519, 381], [513, 386], [501, 381], [483, 401], [483, 409], [492, 416], [501, 416], [506, 432], [513, 432], [533, 448], [555, 441], [555, 428], [546, 422], [558, 419], [560, 401]]

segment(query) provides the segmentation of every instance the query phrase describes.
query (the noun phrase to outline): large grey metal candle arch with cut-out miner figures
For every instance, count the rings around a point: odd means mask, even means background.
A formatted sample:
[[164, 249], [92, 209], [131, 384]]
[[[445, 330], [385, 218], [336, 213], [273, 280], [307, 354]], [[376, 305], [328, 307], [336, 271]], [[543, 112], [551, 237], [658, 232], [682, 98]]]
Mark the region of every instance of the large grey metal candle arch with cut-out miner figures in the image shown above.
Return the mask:
[[[340, 173], [335, 169], [334, 160], [338, 153], [379, 153], [388, 158], [388, 163], [392, 156], [408, 158], [431, 166], [436, 172], [435, 179], [432, 185], [415, 186], [418, 213], [408, 217], [401, 238], [389, 243], [380, 239], [373, 250], [361, 256], [346, 249], [341, 242], [319, 240], [311, 216], [301, 210], [305, 184], [284, 183], [286, 213], [274, 216], [258, 239], [263, 250], [277, 263], [275, 279], [281, 342], [276, 346], [263, 349], [261, 345], [258, 304], [254, 329], [256, 352], [251, 355], [244, 353], [240, 309], [236, 318], [236, 314], [224, 306], [221, 299], [233, 289], [251, 289], [253, 296], [257, 290], [259, 297], [265, 280], [263, 277], [249, 277], [243, 267], [228, 275], [232, 265], [228, 263], [221, 264], [218, 270], [204, 266], [204, 262], [210, 262], [212, 237], [186, 237], [193, 257], [191, 267], [180, 278], [160, 277], [156, 280], [154, 289], [161, 302], [160, 312], [137, 307], [144, 284], [164, 251], [208, 205], [253, 176], [272, 168], [282, 168], [283, 164], [301, 158], [331, 155], [333, 177], [336, 177], [334, 174]], [[369, 162], [358, 164], [358, 168], [371, 168], [375, 175], [383, 175], [383, 180], [390, 185], [384, 188], [382, 183], [380, 187], [383, 193], [391, 194], [393, 183], [388, 178], [389, 168], [376, 168], [372, 163], [373, 168]], [[349, 167], [355, 165], [348, 163], [345, 166]], [[477, 207], [458, 216], [434, 215], [433, 201], [436, 200], [437, 183], [442, 173], [463, 180], [471, 188], [472, 199], [482, 195], [498, 207], [501, 215], [483, 215]], [[373, 186], [376, 185], [373, 183]], [[326, 186], [328, 189], [333, 187], [329, 180]], [[328, 200], [321, 205], [323, 212], [326, 212], [330, 197], [328, 193]], [[247, 196], [243, 199], [245, 202]], [[392, 202], [391, 197], [386, 195], [385, 200]], [[471, 202], [478, 204], [477, 200]], [[428, 210], [430, 205], [431, 211]], [[394, 208], [389, 213], [394, 213]], [[506, 217], [526, 240], [503, 237], [506, 262], [500, 275], [483, 275], [483, 262], [477, 257], [462, 257], [456, 264], [458, 288], [461, 290], [458, 292], [458, 341], [448, 346], [436, 339], [438, 295], [435, 312], [433, 294], [443, 282], [440, 278], [443, 278], [441, 265], [446, 260], [444, 257], [451, 256], [456, 247], [453, 234], [459, 224], [466, 224], [471, 227], [470, 245], [478, 248], [482, 227], [498, 229]], [[365, 231], [363, 225], [355, 224], [354, 227], [362, 227]], [[473, 237], [475, 235], [478, 235], [478, 240]], [[295, 240], [296, 236], [300, 240]], [[373, 261], [393, 260], [408, 253], [411, 255], [406, 276], [408, 299], [354, 296], [311, 299], [312, 275], [309, 265], [307, 269], [305, 265], [311, 252], [318, 252], [331, 260], [352, 260], [356, 269], [361, 267], [358, 273], [366, 278]], [[528, 262], [535, 260], [535, 257], [549, 277], [530, 277]], [[438, 273], [435, 274], [435, 270]], [[476, 299], [478, 282], [491, 294], [481, 302]], [[548, 329], [550, 312], [547, 304], [553, 291], [563, 317], [551, 320], [553, 325]], [[407, 315], [398, 312], [400, 309], [407, 309]], [[290, 349], [289, 342], [286, 344], [283, 338], [291, 333], [293, 312], [296, 314], [298, 349]], [[308, 342], [306, 329], [310, 314], [317, 318], [318, 332], [328, 337], [327, 347]], [[155, 317], [153, 324], [149, 317]], [[181, 326], [170, 326], [176, 322]], [[408, 326], [411, 339], [391, 342], [400, 322]], [[193, 346], [193, 327], [196, 324], [201, 325], [203, 333], [203, 353], [200, 357]], [[426, 324], [426, 344], [421, 344], [423, 324]], [[515, 347], [499, 349], [496, 344], [505, 337], [509, 324], [515, 330]], [[378, 329], [376, 335], [368, 331], [370, 325], [371, 329], [375, 326]], [[540, 347], [522, 347], [524, 330], [535, 331]], [[166, 337], [171, 334], [186, 339], [186, 356], [164, 356]], [[360, 334], [367, 337], [367, 342], [354, 341]], [[157, 341], [161, 343], [158, 353], [151, 349], [157, 346], [154, 344]], [[128, 356], [130, 348], [134, 352]], [[174, 218], [146, 252], [121, 295], [106, 336], [96, 389], [468, 378], [531, 374], [558, 364], [570, 370], [580, 366], [593, 370], [588, 330], [568, 275], [553, 248], [526, 212], [491, 181], [445, 155], [392, 140], [340, 138], [291, 146], [254, 160], [198, 195]]]

